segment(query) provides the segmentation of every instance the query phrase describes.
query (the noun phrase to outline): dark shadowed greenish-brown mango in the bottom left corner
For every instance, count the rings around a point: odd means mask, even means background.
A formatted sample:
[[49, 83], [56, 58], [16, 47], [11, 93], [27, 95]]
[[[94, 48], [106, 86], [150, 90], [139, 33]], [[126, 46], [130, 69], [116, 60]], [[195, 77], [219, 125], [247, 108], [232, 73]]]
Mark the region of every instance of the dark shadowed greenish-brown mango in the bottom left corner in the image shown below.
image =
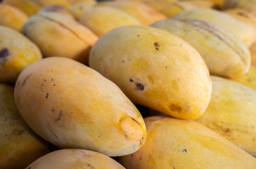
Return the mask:
[[48, 143], [21, 118], [14, 87], [0, 83], [0, 168], [25, 168], [48, 153]]

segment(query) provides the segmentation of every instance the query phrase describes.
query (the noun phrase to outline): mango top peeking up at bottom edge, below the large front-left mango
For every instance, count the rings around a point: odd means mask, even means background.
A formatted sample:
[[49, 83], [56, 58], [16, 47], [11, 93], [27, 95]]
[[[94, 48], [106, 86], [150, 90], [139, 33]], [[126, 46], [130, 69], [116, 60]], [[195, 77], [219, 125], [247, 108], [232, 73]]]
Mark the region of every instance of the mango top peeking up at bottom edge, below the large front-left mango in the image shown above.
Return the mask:
[[25, 169], [112, 168], [125, 169], [109, 156], [86, 149], [61, 149], [37, 159]]

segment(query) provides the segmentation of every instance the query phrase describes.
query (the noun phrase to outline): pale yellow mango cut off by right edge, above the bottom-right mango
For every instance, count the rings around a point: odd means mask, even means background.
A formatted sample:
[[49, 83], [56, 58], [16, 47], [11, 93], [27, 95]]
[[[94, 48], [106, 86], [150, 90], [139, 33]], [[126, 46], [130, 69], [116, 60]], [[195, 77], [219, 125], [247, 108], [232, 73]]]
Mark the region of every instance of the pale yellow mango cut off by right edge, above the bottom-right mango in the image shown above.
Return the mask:
[[256, 91], [222, 77], [211, 82], [211, 101], [196, 121], [256, 156]]

